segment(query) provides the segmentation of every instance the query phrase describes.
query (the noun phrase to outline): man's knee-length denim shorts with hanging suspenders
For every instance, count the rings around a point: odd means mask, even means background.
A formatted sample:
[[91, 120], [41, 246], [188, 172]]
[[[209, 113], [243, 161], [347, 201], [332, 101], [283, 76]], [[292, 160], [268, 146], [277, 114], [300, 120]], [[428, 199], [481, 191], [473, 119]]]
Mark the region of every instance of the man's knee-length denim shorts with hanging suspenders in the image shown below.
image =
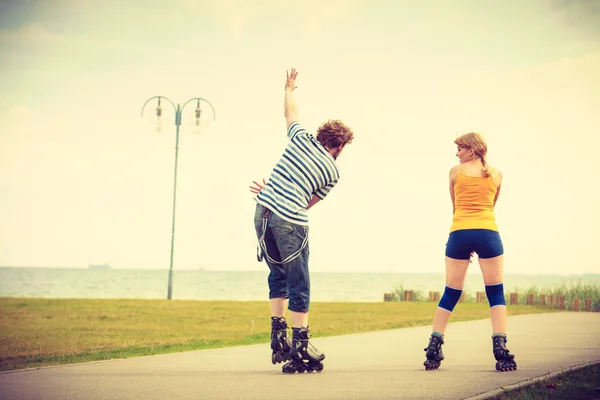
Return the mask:
[[[297, 225], [281, 219], [268, 208], [256, 204], [254, 227], [256, 237], [262, 236], [263, 216], [267, 215], [265, 245], [271, 258], [281, 261], [296, 252], [308, 236], [308, 226]], [[269, 298], [288, 298], [288, 308], [295, 312], [308, 312], [310, 305], [310, 275], [308, 273], [308, 244], [300, 255], [285, 264], [274, 264], [265, 257], [269, 266]]]

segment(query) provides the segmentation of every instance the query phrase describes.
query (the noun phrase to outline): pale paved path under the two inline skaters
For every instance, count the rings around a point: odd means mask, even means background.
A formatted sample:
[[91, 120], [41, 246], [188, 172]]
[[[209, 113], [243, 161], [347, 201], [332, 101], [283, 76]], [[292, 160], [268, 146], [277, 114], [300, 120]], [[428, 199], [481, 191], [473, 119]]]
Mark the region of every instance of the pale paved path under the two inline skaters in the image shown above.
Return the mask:
[[282, 374], [261, 344], [3, 373], [0, 399], [464, 399], [600, 360], [600, 313], [514, 316], [508, 327], [513, 372], [495, 371], [481, 320], [450, 324], [437, 371], [422, 367], [430, 328], [417, 327], [316, 338], [320, 374]]

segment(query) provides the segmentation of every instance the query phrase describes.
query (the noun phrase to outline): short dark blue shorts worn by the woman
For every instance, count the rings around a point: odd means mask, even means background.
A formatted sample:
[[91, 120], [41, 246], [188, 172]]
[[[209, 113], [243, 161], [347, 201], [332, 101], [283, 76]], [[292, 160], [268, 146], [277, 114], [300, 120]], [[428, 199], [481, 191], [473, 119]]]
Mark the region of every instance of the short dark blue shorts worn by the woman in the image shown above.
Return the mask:
[[461, 229], [450, 232], [446, 243], [446, 257], [468, 260], [473, 251], [479, 258], [492, 258], [504, 254], [500, 234], [489, 229]]

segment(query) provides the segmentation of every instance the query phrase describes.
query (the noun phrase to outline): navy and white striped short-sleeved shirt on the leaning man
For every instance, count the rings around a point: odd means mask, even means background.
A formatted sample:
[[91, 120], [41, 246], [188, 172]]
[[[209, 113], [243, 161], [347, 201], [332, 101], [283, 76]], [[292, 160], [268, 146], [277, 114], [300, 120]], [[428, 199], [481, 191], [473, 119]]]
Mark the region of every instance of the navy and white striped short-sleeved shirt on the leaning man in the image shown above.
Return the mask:
[[288, 145], [256, 201], [288, 222], [308, 225], [308, 202], [313, 195], [323, 200], [340, 174], [329, 151], [298, 122], [287, 135]]

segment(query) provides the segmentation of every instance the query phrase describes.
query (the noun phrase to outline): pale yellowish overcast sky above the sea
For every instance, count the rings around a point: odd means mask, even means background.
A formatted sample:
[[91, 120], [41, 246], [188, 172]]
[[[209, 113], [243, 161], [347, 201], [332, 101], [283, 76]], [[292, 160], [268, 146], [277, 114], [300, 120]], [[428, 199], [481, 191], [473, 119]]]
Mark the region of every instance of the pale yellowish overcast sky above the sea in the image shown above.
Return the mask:
[[[355, 132], [309, 212], [313, 271], [443, 272], [448, 171], [477, 131], [504, 174], [507, 273], [600, 273], [600, 3], [0, 2], [0, 265], [263, 269], [253, 179], [300, 121]], [[205, 109], [205, 116], [210, 112]], [[476, 265], [472, 268], [476, 272]]]

